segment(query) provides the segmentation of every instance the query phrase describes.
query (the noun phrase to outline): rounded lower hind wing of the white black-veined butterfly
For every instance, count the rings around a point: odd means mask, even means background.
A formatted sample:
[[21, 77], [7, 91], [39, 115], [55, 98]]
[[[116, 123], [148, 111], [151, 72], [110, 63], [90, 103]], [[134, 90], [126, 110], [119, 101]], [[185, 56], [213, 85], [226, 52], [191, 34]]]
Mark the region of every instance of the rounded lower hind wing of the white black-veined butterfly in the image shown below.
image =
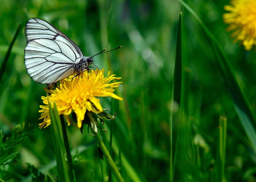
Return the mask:
[[26, 69], [35, 82], [55, 83], [75, 72], [79, 54], [58, 40], [35, 39], [25, 48]]

